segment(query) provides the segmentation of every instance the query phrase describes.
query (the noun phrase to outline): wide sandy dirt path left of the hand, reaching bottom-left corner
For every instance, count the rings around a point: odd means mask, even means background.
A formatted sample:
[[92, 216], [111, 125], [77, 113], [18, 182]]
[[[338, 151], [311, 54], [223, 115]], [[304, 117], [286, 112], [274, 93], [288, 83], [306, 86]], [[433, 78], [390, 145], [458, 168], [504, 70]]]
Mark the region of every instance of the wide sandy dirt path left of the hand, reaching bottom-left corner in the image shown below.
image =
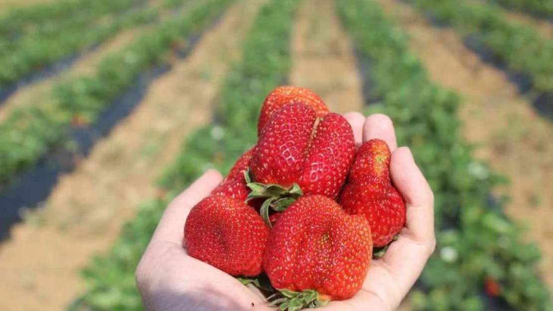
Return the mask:
[[83, 289], [77, 271], [116, 239], [154, 181], [180, 152], [182, 138], [211, 117], [218, 86], [239, 57], [263, 1], [241, 0], [189, 57], [150, 86], [74, 173], [61, 178], [45, 209], [13, 228], [0, 248], [0, 310], [61, 310]]

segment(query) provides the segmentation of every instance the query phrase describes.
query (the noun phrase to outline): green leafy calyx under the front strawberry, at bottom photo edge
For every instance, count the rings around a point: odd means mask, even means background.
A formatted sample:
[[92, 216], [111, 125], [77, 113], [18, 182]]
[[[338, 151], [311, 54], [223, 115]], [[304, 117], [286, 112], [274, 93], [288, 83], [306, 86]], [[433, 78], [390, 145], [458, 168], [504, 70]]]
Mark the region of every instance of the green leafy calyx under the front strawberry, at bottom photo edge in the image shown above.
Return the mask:
[[[278, 307], [280, 311], [298, 311], [305, 308], [324, 307], [330, 302], [327, 296], [319, 294], [315, 289], [304, 289], [302, 292], [279, 289], [279, 298], [269, 297], [269, 304]], [[275, 299], [272, 299], [275, 298]]]

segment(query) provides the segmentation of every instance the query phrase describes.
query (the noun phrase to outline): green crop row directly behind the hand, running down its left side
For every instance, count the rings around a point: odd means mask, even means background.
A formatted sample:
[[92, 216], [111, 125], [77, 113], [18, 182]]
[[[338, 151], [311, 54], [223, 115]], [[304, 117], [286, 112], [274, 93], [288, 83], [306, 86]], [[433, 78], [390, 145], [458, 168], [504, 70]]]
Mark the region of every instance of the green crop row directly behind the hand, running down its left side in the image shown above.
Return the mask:
[[134, 269], [166, 203], [207, 168], [215, 165], [227, 171], [255, 143], [260, 104], [289, 72], [289, 38], [296, 5], [295, 0], [269, 0], [260, 9], [242, 46], [243, 60], [233, 66], [223, 83], [216, 108], [218, 124], [204, 126], [187, 138], [161, 181], [169, 194], [143, 204], [109, 254], [93, 260], [84, 272], [90, 291], [72, 310], [143, 309], [134, 285]]

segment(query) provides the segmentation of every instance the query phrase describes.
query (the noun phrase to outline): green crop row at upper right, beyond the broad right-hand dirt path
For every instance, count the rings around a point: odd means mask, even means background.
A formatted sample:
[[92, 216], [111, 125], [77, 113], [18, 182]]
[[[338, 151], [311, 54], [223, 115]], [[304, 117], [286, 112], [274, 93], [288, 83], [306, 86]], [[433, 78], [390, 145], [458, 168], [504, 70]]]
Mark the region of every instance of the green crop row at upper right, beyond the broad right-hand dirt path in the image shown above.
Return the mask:
[[413, 3], [465, 36], [481, 41], [509, 70], [524, 73], [540, 92], [553, 92], [553, 41], [528, 25], [509, 22], [497, 7], [484, 2], [414, 0]]

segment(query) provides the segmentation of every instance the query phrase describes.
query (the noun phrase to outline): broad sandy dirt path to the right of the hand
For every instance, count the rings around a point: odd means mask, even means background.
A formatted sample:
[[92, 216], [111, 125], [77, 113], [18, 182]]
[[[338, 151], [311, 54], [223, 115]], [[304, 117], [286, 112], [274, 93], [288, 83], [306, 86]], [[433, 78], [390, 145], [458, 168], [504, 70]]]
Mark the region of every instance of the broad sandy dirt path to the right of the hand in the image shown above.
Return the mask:
[[476, 155], [510, 185], [498, 188], [511, 201], [507, 213], [528, 226], [528, 238], [544, 256], [542, 275], [553, 288], [553, 125], [520, 97], [504, 73], [478, 59], [452, 30], [433, 28], [398, 0], [379, 0], [411, 36], [432, 80], [461, 94], [463, 134], [478, 144]]

